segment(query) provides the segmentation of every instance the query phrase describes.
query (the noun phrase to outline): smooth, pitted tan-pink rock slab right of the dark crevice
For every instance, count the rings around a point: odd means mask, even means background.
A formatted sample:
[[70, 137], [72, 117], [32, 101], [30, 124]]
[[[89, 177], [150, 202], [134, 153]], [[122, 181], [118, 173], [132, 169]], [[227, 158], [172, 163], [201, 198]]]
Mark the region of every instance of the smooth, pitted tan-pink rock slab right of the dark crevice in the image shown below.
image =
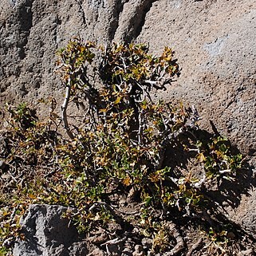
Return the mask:
[[203, 120], [213, 120], [251, 153], [256, 146], [255, 18], [254, 1], [159, 1], [137, 38], [150, 41], [156, 52], [173, 46], [183, 71], [168, 97], [195, 104]]

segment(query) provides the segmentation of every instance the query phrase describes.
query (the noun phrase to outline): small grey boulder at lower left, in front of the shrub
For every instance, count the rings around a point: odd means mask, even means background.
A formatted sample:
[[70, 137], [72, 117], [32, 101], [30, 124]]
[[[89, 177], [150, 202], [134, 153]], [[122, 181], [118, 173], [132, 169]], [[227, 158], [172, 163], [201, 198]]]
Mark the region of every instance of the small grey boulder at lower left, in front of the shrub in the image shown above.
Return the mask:
[[15, 244], [14, 256], [88, 254], [76, 228], [61, 218], [65, 211], [67, 208], [60, 206], [30, 205], [20, 223], [26, 240]]

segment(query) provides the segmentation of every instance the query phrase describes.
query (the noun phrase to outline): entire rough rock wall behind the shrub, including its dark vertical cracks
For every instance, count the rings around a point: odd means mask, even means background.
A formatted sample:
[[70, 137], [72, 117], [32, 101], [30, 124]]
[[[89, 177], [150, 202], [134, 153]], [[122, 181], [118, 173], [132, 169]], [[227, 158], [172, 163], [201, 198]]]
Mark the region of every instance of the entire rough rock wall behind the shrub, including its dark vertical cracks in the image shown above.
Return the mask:
[[[154, 53], [175, 49], [181, 77], [160, 97], [195, 104], [204, 128], [256, 157], [256, 2], [254, 0], [2, 0], [0, 104], [33, 103], [63, 89], [55, 51], [80, 34], [85, 40], [149, 42]], [[0, 115], [3, 115], [0, 110]], [[254, 179], [238, 184], [246, 195], [230, 211], [254, 232]], [[251, 187], [251, 188], [250, 188]], [[250, 191], [249, 191], [250, 188]], [[29, 220], [27, 220], [29, 221]], [[61, 254], [60, 254], [61, 255]]]

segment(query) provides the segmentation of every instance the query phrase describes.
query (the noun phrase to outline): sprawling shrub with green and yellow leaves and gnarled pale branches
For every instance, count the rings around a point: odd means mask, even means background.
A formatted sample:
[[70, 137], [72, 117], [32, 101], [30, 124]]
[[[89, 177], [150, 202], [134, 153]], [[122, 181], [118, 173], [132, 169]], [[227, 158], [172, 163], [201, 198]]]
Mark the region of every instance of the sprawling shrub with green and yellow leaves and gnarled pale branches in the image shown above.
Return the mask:
[[[153, 251], [176, 250], [168, 246], [171, 233], [163, 226], [176, 216], [200, 215], [208, 205], [208, 184], [234, 175], [242, 156], [234, 154], [222, 136], [202, 140], [195, 107], [152, 100], [179, 76], [168, 47], [154, 57], [147, 45], [104, 48], [73, 38], [57, 54], [57, 71], [65, 87], [61, 121], [66, 136], [59, 132], [53, 99], [45, 122], [26, 104], [8, 108], [5, 162], [15, 182], [2, 184], [2, 244], [8, 246], [4, 241], [17, 233], [10, 230], [11, 223], [16, 221], [18, 228], [26, 206], [37, 202], [75, 208], [66, 217], [81, 232], [97, 225], [107, 229], [113, 221], [125, 229], [126, 222], [154, 238]], [[69, 118], [70, 104], [77, 105], [81, 118]], [[180, 154], [194, 158], [201, 176], [199, 171], [167, 165], [170, 148], [178, 145], [183, 148]], [[15, 195], [10, 196], [13, 190]], [[139, 204], [141, 217], [116, 211], [116, 196]]]

